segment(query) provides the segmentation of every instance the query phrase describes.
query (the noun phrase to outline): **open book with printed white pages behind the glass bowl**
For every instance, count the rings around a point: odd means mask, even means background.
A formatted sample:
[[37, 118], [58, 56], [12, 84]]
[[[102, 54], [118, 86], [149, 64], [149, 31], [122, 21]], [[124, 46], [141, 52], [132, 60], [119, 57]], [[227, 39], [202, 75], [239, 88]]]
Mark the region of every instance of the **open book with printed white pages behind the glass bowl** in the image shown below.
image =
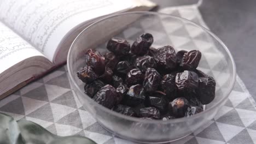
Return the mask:
[[153, 7], [147, 0], [1, 0], [0, 99], [65, 63], [72, 41], [96, 18]]

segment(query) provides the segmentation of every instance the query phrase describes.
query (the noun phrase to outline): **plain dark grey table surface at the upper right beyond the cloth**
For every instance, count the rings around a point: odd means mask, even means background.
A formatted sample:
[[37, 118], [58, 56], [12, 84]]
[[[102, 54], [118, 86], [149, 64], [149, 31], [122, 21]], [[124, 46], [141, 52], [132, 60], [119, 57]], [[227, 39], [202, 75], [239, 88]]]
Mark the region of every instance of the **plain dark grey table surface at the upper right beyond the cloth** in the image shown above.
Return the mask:
[[[158, 8], [193, 4], [198, 0], [152, 0]], [[228, 46], [237, 74], [256, 100], [256, 1], [203, 0], [199, 10], [208, 27]]]

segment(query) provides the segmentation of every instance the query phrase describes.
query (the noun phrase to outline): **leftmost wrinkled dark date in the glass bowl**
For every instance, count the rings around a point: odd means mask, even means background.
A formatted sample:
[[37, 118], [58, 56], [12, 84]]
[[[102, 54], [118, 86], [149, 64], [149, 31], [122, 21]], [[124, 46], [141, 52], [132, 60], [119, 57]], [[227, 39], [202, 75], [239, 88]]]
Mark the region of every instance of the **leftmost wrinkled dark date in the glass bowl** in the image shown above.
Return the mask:
[[77, 76], [84, 83], [91, 83], [98, 79], [98, 75], [94, 73], [94, 70], [90, 66], [85, 66], [77, 71]]

